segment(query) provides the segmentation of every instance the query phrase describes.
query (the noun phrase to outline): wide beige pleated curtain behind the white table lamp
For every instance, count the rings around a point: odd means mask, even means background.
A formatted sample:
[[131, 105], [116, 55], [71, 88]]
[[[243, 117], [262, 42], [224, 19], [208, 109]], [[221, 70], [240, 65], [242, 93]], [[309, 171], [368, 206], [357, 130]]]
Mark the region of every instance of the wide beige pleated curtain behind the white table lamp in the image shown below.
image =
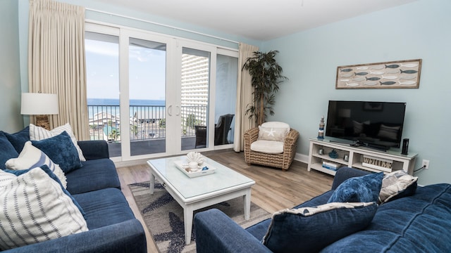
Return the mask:
[[58, 94], [51, 128], [69, 122], [78, 140], [88, 140], [85, 8], [30, 0], [28, 35], [29, 92]]

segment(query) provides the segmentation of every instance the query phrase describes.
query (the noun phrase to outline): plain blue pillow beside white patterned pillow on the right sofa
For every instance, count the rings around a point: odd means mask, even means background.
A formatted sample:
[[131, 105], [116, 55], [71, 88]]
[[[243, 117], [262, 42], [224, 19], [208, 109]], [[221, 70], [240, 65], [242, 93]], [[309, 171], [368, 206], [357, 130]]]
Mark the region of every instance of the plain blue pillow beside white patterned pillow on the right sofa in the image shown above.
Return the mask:
[[377, 202], [383, 172], [346, 179], [330, 196], [330, 202]]

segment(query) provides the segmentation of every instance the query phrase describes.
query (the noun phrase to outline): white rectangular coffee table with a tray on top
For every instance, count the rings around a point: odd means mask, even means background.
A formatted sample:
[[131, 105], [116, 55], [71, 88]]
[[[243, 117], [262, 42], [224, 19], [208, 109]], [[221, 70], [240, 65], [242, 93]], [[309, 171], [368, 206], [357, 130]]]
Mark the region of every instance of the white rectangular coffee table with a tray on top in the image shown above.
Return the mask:
[[216, 168], [215, 173], [190, 178], [175, 167], [175, 161], [185, 162], [186, 156], [147, 161], [151, 168], [150, 191], [154, 193], [156, 178], [183, 207], [185, 244], [188, 245], [191, 242], [194, 210], [243, 196], [245, 219], [250, 218], [251, 187], [255, 184], [254, 180], [207, 157], [204, 157], [204, 161]]

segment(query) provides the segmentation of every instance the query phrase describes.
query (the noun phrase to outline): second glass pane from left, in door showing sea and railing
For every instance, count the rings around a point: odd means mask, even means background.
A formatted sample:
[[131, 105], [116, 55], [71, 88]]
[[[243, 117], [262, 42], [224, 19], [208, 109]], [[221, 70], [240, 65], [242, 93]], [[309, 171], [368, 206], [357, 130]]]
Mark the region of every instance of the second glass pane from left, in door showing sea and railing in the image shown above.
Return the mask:
[[166, 153], [166, 44], [130, 37], [130, 155]]

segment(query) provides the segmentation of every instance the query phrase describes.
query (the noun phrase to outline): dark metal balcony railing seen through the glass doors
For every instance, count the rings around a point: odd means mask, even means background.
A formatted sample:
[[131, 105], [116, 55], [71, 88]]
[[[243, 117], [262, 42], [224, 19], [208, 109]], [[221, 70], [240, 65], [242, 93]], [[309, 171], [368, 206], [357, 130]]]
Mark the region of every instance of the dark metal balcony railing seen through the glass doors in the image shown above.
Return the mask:
[[[121, 124], [130, 126], [130, 141], [166, 138], [166, 106], [130, 105], [130, 119], [121, 122], [118, 105], [88, 105], [92, 140], [121, 141]], [[194, 126], [206, 126], [206, 106], [182, 106], [180, 136], [195, 136]], [[175, 112], [173, 112], [175, 113]]]

